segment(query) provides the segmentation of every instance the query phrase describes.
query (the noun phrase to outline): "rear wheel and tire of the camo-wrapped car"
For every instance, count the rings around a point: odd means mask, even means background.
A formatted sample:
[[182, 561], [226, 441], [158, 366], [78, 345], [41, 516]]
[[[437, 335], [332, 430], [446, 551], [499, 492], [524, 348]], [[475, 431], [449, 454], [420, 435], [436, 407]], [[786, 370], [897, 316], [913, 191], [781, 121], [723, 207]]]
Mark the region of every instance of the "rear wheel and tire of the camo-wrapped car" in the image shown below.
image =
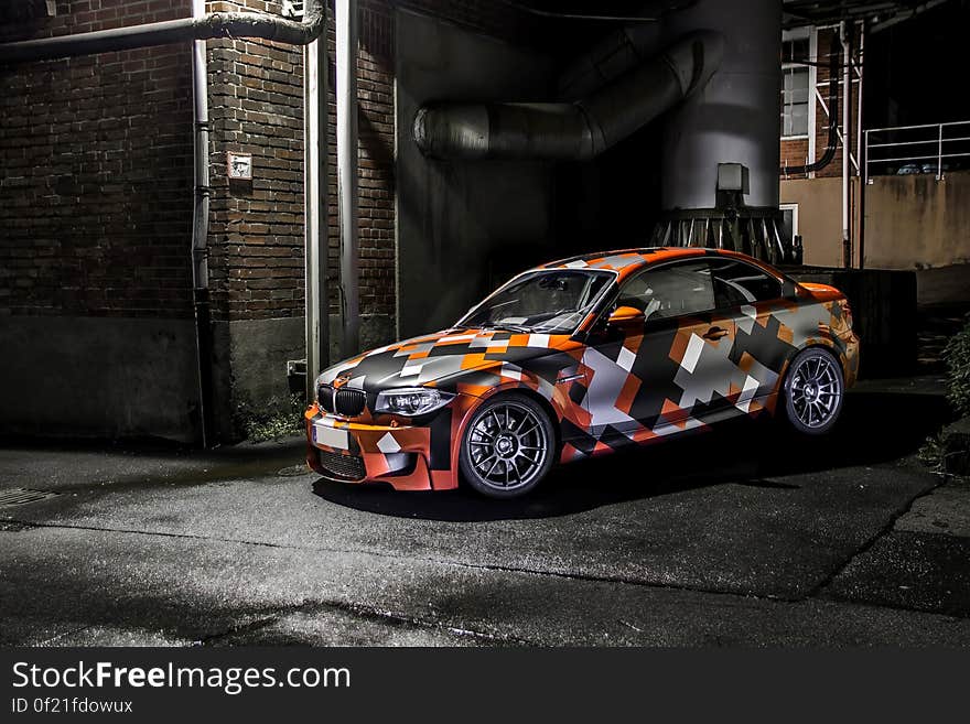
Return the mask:
[[822, 435], [842, 412], [845, 379], [842, 365], [823, 347], [810, 347], [788, 366], [783, 388], [785, 417], [806, 435]]

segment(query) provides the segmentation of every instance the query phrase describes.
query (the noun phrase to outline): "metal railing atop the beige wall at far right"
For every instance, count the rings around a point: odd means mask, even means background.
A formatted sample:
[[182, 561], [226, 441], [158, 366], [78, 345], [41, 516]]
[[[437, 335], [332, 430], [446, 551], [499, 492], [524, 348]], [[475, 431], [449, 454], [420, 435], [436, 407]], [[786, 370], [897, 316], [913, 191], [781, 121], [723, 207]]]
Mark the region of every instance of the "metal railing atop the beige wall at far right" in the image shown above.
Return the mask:
[[970, 120], [871, 128], [864, 136], [866, 183], [872, 176], [910, 173], [933, 173], [941, 181], [951, 169], [970, 168]]

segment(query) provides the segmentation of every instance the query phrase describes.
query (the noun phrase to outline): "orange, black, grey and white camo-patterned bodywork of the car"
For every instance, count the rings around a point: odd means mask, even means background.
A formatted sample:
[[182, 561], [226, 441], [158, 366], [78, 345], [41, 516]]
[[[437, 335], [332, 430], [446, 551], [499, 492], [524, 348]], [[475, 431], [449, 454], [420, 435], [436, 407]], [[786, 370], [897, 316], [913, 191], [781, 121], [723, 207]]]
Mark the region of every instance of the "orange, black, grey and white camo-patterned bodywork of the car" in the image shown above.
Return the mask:
[[[398, 342], [340, 363], [320, 379], [356, 390], [359, 414], [343, 418], [313, 404], [305, 414], [308, 462], [327, 477], [323, 456], [354, 458], [358, 473], [338, 479], [384, 480], [397, 489], [459, 485], [465, 425], [483, 401], [518, 390], [546, 408], [558, 428], [560, 460], [574, 461], [702, 430], [739, 415], [775, 411], [794, 356], [827, 347], [847, 387], [855, 380], [859, 343], [844, 296], [830, 287], [796, 284], [742, 255], [707, 249], [635, 249], [586, 255], [540, 269], [602, 269], [622, 285], [650, 264], [703, 255], [743, 259], [785, 285], [776, 300], [597, 333], [603, 310], [572, 335], [452, 328]], [[705, 334], [718, 328], [719, 336]], [[390, 388], [432, 387], [454, 399], [424, 418], [371, 412]], [[337, 461], [342, 462], [342, 461]]]

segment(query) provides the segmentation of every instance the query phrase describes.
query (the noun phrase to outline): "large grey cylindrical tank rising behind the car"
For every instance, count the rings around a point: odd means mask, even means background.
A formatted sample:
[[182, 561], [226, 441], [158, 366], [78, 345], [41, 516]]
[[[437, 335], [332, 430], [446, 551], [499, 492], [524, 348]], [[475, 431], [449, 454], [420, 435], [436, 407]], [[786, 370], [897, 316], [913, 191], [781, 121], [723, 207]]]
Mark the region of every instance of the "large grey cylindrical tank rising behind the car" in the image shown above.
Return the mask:
[[714, 208], [718, 164], [750, 172], [748, 207], [778, 206], [782, 2], [699, 0], [664, 20], [667, 41], [713, 30], [724, 36], [721, 67], [664, 123], [662, 207]]

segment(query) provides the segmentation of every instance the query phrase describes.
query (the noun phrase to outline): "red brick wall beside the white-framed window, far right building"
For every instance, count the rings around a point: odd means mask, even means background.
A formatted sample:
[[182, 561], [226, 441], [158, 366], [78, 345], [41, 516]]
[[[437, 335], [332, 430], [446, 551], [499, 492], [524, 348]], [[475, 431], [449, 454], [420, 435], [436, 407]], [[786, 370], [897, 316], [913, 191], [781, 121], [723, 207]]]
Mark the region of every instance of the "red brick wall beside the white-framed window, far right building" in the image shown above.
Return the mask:
[[[838, 94], [839, 94], [839, 118], [838, 123], [841, 128], [842, 126], [842, 104], [844, 101], [843, 91], [842, 91], [842, 73], [841, 73], [841, 64], [842, 64], [842, 48], [838, 42], [839, 30], [838, 29], [823, 29], [818, 31], [818, 62], [819, 66], [816, 68], [816, 84], [818, 86], [819, 94], [826, 101], [826, 106], [829, 104], [829, 62], [830, 62], [830, 53], [834, 52], [839, 55], [839, 74], [836, 77], [836, 83], [838, 85]], [[858, 46], [858, 37], [855, 40]], [[855, 148], [856, 148], [856, 119], [859, 111], [859, 85], [855, 83], [855, 71], [852, 71], [852, 93], [850, 96], [851, 104], [851, 117], [852, 123], [849, 134], [849, 143], [852, 156], [855, 158]], [[826, 151], [826, 145], [829, 139], [829, 116], [826, 112], [822, 105], [818, 101], [818, 97], [815, 95], [815, 89], [809, 88], [809, 93], [811, 94], [811, 99], [815, 102], [815, 138], [816, 138], [816, 151], [815, 159], [820, 159]], [[797, 139], [789, 141], [782, 141], [782, 168], [786, 165], [788, 166], [799, 166], [804, 165], [808, 162], [812, 161], [812, 159], [808, 158], [808, 139]], [[855, 168], [852, 166], [852, 175], [855, 175]], [[829, 163], [823, 169], [816, 172], [816, 176], [841, 176], [842, 175], [842, 144], [838, 143], [836, 149], [836, 156], [832, 159], [831, 163]], [[784, 173], [783, 173], [784, 177]], [[789, 176], [795, 177], [795, 176]], [[805, 174], [801, 174], [799, 177], [805, 177]]]

